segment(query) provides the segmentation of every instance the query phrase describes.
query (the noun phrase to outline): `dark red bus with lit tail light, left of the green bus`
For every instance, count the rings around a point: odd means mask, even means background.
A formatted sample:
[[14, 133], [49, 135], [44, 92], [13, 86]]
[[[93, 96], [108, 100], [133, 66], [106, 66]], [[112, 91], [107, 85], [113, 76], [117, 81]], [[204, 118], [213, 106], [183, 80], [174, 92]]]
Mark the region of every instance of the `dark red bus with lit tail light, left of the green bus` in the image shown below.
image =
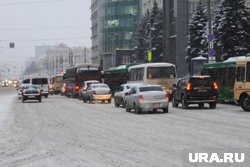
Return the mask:
[[67, 97], [78, 97], [79, 90], [86, 80], [102, 80], [102, 72], [99, 65], [96, 64], [80, 64], [66, 69], [65, 83]]

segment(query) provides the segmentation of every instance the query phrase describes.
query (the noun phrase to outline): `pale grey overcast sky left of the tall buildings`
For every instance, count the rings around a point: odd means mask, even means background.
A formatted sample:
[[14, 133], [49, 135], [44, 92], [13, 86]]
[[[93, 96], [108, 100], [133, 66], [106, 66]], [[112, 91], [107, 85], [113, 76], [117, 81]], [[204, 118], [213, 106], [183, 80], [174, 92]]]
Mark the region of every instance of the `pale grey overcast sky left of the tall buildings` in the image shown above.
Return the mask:
[[36, 45], [90, 47], [90, 1], [0, 0], [0, 64], [34, 57]]

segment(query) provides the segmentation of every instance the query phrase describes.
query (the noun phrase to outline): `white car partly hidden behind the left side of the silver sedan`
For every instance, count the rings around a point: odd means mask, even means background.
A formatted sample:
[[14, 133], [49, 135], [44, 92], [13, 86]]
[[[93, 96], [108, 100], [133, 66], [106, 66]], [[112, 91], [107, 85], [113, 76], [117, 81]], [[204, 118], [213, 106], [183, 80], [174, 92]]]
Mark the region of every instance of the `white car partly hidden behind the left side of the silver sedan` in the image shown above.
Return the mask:
[[125, 107], [125, 97], [126, 97], [126, 93], [128, 93], [131, 88], [133, 88], [136, 85], [143, 85], [141, 83], [130, 83], [130, 84], [122, 84], [119, 88], [119, 90], [115, 93], [114, 95], [114, 103], [115, 103], [115, 107], [119, 107], [120, 105], [122, 105], [123, 107]]

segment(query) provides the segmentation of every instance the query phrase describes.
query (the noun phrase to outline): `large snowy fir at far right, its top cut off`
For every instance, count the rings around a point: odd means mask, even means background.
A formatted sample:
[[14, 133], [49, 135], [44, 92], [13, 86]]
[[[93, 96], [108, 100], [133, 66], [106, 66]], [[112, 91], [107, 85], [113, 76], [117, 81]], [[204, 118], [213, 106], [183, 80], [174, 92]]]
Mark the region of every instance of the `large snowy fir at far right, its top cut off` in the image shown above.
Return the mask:
[[221, 59], [246, 55], [250, 52], [250, 13], [244, 0], [223, 0], [216, 27]]

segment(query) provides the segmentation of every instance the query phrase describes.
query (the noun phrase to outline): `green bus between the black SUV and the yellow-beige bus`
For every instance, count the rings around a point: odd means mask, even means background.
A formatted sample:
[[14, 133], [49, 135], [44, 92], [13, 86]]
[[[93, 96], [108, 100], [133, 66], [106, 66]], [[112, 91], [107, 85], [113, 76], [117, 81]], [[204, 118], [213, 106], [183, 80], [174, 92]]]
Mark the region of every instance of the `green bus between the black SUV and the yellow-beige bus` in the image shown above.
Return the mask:
[[210, 75], [218, 83], [219, 101], [234, 102], [236, 61], [245, 57], [232, 57], [224, 62], [204, 64], [203, 73]]

